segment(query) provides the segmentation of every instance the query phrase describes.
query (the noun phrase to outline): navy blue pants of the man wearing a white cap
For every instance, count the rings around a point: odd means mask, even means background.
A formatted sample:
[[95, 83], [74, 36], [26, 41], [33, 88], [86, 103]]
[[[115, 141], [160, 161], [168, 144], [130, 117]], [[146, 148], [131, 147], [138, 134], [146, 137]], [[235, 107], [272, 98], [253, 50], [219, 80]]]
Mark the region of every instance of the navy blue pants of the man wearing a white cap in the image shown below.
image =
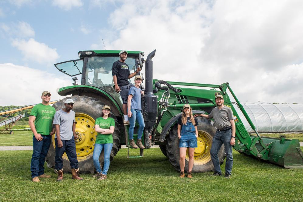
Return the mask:
[[56, 155], [55, 155], [55, 169], [61, 170], [63, 168], [63, 159], [62, 156], [64, 152], [66, 153], [68, 160], [71, 163], [71, 169], [75, 168], [78, 169], [78, 160], [77, 160], [77, 153], [76, 153], [76, 144], [75, 138], [72, 137], [70, 140], [61, 140], [63, 143], [63, 147], [58, 147], [58, 140], [55, 138], [55, 145], [56, 145]]

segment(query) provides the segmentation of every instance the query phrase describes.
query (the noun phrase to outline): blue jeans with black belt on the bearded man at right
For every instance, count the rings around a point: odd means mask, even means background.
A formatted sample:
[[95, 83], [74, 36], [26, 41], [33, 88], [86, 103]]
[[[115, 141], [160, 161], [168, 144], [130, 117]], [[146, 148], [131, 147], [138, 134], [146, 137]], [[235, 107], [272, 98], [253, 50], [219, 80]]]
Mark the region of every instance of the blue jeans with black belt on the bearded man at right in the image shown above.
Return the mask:
[[214, 164], [214, 172], [222, 174], [220, 168], [220, 162], [218, 158], [218, 152], [221, 148], [221, 145], [224, 144], [225, 153], [226, 153], [226, 162], [225, 162], [225, 174], [232, 174], [232, 145], [230, 145], [230, 140], [232, 139], [232, 130], [227, 131], [217, 131], [213, 143], [211, 145], [211, 160]]

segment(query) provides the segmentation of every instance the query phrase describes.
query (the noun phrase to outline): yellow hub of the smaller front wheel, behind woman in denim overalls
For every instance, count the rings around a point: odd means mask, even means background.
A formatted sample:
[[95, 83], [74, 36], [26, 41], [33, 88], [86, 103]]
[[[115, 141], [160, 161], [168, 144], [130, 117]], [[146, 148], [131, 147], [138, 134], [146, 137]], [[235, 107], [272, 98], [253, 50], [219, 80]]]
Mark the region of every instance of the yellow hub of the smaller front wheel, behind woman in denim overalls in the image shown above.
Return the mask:
[[[211, 134], [206, 131], [198, 131], [197, 143], [198, 147], [195, 148], [195, 152], [193, 154], [194, 165], [203, 165], [211, 160], [211, 144], [213, 142], [213, 137]], [[186, 160], [188, 161], [188, 149], [186, 151]]]

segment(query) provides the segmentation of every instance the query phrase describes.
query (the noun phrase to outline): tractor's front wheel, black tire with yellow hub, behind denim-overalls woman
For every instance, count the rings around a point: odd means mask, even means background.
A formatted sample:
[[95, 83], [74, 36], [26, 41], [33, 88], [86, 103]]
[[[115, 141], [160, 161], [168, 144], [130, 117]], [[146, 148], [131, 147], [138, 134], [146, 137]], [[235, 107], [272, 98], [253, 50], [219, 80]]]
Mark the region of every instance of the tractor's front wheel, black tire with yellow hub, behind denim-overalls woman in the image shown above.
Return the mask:
[[[198, 120], [198, 148], [195, 149], [194, 154], [194, 165], [192, 172], [209, 172], [214, 171], [214, 165], [211, 161], [210, 157], [210, 148], [212, 139], [216, 133], [216, 128], [214, 126], [214, 122], [204, 118], [197, 117]], [[169, 137], [167, 138], [166, 144], [166, 153], [169, 158], [170, 163], [175, 167], [176, 170], [180, 171], [179, 159], [179, 138], [177, 134], [177, 126], [175, 124], [172, 129], [169, 131]], [[185, 171], [188, 170], [188, 154], [186, 153], [185, 158]], [[220, 165], [224, 162], [224, 158], [226, 157], [224, 152], [224, 145], [221, 146], [218, 152]]]

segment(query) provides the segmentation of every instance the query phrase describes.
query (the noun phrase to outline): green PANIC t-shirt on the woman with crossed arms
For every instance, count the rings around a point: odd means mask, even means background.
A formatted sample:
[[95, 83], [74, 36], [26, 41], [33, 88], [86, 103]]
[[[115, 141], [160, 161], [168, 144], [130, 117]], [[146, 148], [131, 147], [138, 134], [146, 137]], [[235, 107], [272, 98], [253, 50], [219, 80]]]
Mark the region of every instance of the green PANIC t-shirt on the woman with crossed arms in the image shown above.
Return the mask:
[[[96, 119], [95, 125], [99, 125], [100, 128], [110, 129], [111, 126], [115, 127], [115, 120], [111, 117], [103, 119], [103, 117], [98, 117]], [[113, 143], [112, 134], [100, 134], [98, 133], [96, 138], [97, 144]]]

